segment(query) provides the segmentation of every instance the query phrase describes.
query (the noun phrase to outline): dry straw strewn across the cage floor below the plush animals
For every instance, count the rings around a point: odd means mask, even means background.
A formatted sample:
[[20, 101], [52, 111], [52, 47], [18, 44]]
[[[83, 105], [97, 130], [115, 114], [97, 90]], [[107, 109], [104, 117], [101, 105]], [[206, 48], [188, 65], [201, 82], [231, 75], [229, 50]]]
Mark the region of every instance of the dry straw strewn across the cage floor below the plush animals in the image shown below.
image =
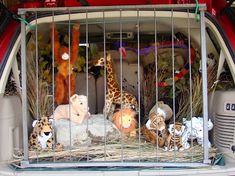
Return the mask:
[[[209, 158], [215, 158], [216, 148], [209, 149]], [[21, 156], [15, 155], [14, 161], [21, 160]], [[142, 162], [203, 162], [203, 147], [195, 145], [188, 150], [164, 151], [162, 148], [146, 143], [123, 140], [93, 144], [92, 146], [78, 146], [75, 149], [65, 151], [29, 151], [30, 161], [142, 161]]]

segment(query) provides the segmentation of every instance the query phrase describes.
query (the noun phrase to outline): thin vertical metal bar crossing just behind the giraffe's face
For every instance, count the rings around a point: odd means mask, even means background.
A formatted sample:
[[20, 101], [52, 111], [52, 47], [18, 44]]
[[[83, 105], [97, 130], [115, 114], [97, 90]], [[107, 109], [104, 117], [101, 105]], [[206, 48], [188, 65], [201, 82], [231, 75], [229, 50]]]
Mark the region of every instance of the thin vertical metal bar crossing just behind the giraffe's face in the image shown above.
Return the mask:
[[[103, 11], [103, 35], [104, 35], [104, 109], [106, 109], [106, 93], [107, 93], [107, 82], [106, 82], [106, 74], [107, 74], [107, 66], [106, 66], [106, 23], [105, 23], [105, 12]], [[104, 161], [106, 161], [106, 153], [107, 153], [107, 138], [106, 138], [106, 111], [104, 113]]]

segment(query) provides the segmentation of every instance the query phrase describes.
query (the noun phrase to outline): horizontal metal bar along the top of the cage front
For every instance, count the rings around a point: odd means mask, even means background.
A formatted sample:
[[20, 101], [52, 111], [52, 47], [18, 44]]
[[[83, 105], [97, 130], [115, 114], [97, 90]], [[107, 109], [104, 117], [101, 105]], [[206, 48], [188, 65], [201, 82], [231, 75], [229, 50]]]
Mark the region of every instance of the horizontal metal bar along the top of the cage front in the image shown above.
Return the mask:
[[[102, 11], [105, 9], [105, 11], [119, 11], [122, 10], [185, 10], [185, 9], [195, 9], [195, 4], [161, 4], [161, 5], [121, 5], [121, 6], [93, 6], [93, 7], [55, 7], [55, 8], [20, 8], [18, 10], [18, 14], [22, 15], [26, 12], [65, 12], [70, 10], [70, 12], [84, 12], [84, 11]], [[199, 10], [206, 10], [206, 4], [199, 4]]]

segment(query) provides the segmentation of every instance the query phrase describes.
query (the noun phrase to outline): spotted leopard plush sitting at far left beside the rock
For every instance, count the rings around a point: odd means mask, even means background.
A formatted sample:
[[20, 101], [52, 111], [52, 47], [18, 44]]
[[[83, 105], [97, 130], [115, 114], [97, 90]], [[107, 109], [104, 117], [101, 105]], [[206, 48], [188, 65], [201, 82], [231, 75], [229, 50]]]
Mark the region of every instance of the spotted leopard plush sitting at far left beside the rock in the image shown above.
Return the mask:
[[[29, 148], [31, 150], [53, 149], [55, 141], [52, 134], [52, 122], [53, 119], [47, 117], [33, 121], [33, 131], [29, 137]], [[61, 144], [56, 144], [54, 147], [56, 150], [63, 149]]]

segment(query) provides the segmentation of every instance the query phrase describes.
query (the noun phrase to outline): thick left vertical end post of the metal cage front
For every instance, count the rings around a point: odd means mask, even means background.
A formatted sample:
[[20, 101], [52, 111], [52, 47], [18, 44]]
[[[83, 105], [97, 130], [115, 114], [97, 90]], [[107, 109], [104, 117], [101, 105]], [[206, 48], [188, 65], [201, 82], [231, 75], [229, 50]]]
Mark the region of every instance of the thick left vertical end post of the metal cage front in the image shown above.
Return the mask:
[[[25, 15], [21, 15], [25, 19]], [[21, 71], [22, 71], [22, 120], [23, 120], [23, 149], [24, 159], [23, 162], [27, 164], [29, 158], [28, 151], [28, 113], [27, 113], [27, 77], [26, 77], [26, 29], [25, 23], [21, 21]]]

